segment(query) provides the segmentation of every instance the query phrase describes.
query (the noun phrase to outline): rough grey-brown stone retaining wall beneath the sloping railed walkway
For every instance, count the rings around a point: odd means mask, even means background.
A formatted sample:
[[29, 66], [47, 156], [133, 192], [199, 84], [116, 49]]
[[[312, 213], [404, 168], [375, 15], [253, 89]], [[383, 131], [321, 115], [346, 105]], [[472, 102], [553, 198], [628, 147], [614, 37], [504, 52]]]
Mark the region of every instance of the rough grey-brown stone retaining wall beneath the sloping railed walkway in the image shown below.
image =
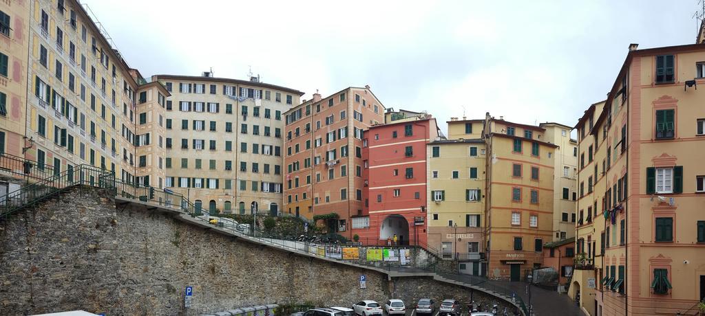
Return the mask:
[[[360, 289], [360, 274], [367, 289]], [[349, 306], [395, 293], [409, 305], [425, 296], [469, 296], [430, 278], [389, 280], [251, 244], [146, 206], [116, 205], [109, 191], [90, 187], [0, 222], [0, 285], [0, 315], [185, 315], [185, 286], [194, 291], [189, 315], [269, 303]], [[491, 300], [477, 291], [474, 297]]]

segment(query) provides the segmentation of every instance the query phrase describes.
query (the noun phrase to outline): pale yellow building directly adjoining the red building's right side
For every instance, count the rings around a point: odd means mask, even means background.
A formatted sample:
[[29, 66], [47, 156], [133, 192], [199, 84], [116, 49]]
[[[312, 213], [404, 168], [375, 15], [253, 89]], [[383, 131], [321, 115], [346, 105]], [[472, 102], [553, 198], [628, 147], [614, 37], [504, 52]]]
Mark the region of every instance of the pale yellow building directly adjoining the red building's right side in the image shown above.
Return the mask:
[[430, 141], [427, 150], [428, 245], [439, 249], [444, 259], [457, 258], [460, 272], [473, 275], [486, 274], [481, 260], [486, 188], [483, 126], [484, 120], [450, 118], [448, 138]]

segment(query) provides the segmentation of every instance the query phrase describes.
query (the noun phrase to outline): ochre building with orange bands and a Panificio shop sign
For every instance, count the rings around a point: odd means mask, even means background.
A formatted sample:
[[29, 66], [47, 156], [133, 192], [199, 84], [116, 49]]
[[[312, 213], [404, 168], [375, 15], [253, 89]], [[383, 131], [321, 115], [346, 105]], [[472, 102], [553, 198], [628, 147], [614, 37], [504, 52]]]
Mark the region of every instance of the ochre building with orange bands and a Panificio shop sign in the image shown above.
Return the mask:
[[487, 113], [484, 234], [491, 279], [520, 280], [543, 262], [553, 240], [553, 154], [546, 129]]

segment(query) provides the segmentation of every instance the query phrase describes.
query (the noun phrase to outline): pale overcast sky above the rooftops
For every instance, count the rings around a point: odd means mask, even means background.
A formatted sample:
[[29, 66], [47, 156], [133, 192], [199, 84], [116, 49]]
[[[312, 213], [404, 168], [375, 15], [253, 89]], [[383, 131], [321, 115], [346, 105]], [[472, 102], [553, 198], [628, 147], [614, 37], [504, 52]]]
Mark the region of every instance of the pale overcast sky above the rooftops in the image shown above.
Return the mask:
[[[82, 0], [128, 64], [328, 96], [369, 84], [386, 107], [573, 125], [630, 43], [692, 44], [697, 0]], [[443, 126], [443, 129], [446, 127]]]

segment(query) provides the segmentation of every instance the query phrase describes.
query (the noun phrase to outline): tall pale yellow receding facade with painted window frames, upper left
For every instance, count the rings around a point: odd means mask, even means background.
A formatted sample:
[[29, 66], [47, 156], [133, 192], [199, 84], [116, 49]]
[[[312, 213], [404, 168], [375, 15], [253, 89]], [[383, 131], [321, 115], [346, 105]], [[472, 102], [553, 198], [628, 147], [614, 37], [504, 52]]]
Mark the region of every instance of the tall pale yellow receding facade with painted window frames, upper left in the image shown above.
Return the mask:
[[132, 181], [137, 83], [130, 68], [78, 1], [25, 4], [25, 157], [54, 172], [90, 163]]

